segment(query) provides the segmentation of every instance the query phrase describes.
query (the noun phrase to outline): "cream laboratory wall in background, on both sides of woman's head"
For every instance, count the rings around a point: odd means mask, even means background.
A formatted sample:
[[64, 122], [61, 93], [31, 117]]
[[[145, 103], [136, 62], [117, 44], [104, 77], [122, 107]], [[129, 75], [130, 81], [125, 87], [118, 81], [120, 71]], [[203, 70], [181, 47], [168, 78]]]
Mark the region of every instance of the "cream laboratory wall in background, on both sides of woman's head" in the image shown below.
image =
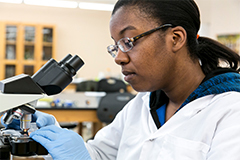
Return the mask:
[[[201, 36], [216, 39], [217, 34], [240, 33], [240, 0], [196, 0], [200, 8]], [[109, 69], [120, 75], [120, 67], [108, 55], [113, 43], [109, 34], [107, 11], [63, 9], [0, 3], [0, 21], [47, 23], [57, 26], [57, 60], [67, 53], [78, 54], [85, 61], [78, 77], [96, 78]]]

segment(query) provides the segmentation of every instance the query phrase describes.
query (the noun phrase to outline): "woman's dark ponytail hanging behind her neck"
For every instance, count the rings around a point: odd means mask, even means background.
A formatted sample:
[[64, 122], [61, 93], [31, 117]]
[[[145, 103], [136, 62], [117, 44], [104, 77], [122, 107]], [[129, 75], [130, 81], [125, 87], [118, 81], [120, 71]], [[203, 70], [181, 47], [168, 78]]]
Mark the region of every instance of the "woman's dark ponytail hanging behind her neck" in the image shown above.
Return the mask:
[[226, 62], [230, 68], [237, 70], [240, 56], [225, 45], [206, 37], [198, 38], [197, 57], [202, 62], [202, 70], [206, 75], [217, 69], [220, 62]]

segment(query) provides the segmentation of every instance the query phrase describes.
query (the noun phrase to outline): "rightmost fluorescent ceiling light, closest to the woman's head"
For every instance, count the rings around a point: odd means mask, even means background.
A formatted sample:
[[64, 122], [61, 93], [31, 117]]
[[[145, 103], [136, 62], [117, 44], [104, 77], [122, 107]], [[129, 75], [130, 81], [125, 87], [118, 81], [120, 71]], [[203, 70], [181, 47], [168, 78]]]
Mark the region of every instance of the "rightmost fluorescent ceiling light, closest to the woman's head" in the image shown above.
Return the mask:
[[79, 8], [81, 9], [112, 11], [113, 7], [113, 4], [79, 2]]

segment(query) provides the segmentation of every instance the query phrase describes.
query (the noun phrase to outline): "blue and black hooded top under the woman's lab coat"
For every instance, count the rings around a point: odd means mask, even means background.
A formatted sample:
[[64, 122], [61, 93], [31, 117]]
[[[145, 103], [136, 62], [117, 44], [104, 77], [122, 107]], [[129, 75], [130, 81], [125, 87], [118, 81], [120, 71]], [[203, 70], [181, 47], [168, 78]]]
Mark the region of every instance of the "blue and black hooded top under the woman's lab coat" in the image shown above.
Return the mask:
[[[233, 69], [218, 68], [204, 78], [202, 83], [188, 96], [177, 112], [195, 99], [228, 91], [240, 92], [240, 74]], [[150, 112], [157, 128], [164, 125], [166, 121], [166, 106], [168, 101], [168, 97], [161, 90], [151, 92], [150, 94]]]

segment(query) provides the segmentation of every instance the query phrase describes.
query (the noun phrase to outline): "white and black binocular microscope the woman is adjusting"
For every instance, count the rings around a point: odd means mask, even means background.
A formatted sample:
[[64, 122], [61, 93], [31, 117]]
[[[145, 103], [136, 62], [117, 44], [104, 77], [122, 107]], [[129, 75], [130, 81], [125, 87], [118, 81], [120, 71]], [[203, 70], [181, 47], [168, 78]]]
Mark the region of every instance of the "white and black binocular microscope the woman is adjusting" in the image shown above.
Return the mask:
[[37, 101], [60, 93], [83, 65], [80, 57], [68, 54], [60, 62], [50, 59], [32, 77], [20, 74], [0, 81], [0, 116], [4, 116], [5, 124], [13, 119], [20, 120], [20, 130], [4, 128], [0, 131], [1, 160], [10, 160], [11, 155], [48, 154], [41, 144], [29, 138]]

